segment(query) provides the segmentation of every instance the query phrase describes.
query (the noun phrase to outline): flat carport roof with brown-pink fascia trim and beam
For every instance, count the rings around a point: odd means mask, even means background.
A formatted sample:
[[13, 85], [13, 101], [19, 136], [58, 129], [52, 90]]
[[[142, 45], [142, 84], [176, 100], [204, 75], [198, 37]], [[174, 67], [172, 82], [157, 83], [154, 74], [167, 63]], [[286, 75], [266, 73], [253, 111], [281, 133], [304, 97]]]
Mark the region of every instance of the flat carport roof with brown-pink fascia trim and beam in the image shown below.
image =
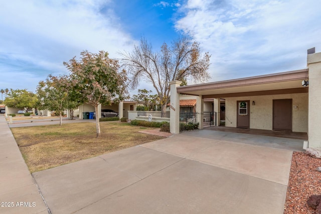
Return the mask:
[[177, 88], [177, 92], [203, 95], [204, 99], [308, 93], [308, 87], [301, 85], [302, 80], [308, 80], [308, 69], [182, 86]]

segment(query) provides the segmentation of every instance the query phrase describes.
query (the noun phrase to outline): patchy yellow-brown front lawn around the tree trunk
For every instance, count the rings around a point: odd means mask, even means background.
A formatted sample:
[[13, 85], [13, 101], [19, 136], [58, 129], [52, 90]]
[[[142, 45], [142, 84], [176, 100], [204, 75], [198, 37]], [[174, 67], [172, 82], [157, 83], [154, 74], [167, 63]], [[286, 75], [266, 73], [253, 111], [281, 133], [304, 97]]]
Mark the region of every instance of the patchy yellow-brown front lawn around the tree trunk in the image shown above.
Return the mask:
[[164, 138], [138, 133], [145, 127], [128, 123], [100, 122], [100, 128], [100, 138], [96, 138], [96, 124], [89, 122], [11, 130], [31, 172]]

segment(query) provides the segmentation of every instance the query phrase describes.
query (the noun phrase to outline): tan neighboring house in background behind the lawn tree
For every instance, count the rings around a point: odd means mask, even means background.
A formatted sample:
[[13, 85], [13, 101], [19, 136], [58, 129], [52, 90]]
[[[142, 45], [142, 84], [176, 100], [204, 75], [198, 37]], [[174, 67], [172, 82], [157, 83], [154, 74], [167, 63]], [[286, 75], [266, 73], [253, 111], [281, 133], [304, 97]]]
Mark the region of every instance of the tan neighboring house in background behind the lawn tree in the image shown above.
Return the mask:
[[[119, 119], [122, 117], [128, 118], [128, 111], [134, 111], [136, 110], [136, 101], [122, 101], [120, 103], [112, 103], [111, 106], [104, 106], [99, 105], [98, 106], [98, 113], [96, 112], [96, 116], [101, 117], [101, 109], [111, 109], [115, 112], [119, 113]], [[79, 119], [83, 119], [83, 112], [95, 112], [95, 107], [93, 107], [90, 104], [83, 104], [79, 106]]]

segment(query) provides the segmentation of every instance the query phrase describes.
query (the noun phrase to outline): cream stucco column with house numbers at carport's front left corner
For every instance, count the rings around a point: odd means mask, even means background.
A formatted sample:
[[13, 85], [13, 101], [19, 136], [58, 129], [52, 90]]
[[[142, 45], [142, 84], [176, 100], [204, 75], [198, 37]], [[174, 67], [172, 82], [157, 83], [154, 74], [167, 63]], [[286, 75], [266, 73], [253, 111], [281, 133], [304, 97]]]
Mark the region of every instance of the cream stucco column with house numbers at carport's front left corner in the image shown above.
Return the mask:
[[175, 80], [169, 82], [171, 90], [171, 133], [179, 134], [180, 133], [180, 94], [177, 93], [177, 87], [181, 85], [181, 81]]

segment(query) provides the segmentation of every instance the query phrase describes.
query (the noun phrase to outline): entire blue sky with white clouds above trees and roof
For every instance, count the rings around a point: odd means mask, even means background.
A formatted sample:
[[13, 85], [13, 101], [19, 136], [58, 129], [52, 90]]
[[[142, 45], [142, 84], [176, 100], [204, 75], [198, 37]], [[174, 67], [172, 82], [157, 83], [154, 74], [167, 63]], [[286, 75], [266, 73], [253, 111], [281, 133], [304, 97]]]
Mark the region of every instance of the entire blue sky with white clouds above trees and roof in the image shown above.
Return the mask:
[[[0, 89], [35, 92], [81, 51], [119, 59], [142, 37], [154, 51], [179, 36], [199, 42], [211, 55], [208, 82], [304, 69], [306, 50], [321, 52], [319, 0], [1, 2]], [[144, 88], [153, 90], [142, 81], [131, 94]]]

